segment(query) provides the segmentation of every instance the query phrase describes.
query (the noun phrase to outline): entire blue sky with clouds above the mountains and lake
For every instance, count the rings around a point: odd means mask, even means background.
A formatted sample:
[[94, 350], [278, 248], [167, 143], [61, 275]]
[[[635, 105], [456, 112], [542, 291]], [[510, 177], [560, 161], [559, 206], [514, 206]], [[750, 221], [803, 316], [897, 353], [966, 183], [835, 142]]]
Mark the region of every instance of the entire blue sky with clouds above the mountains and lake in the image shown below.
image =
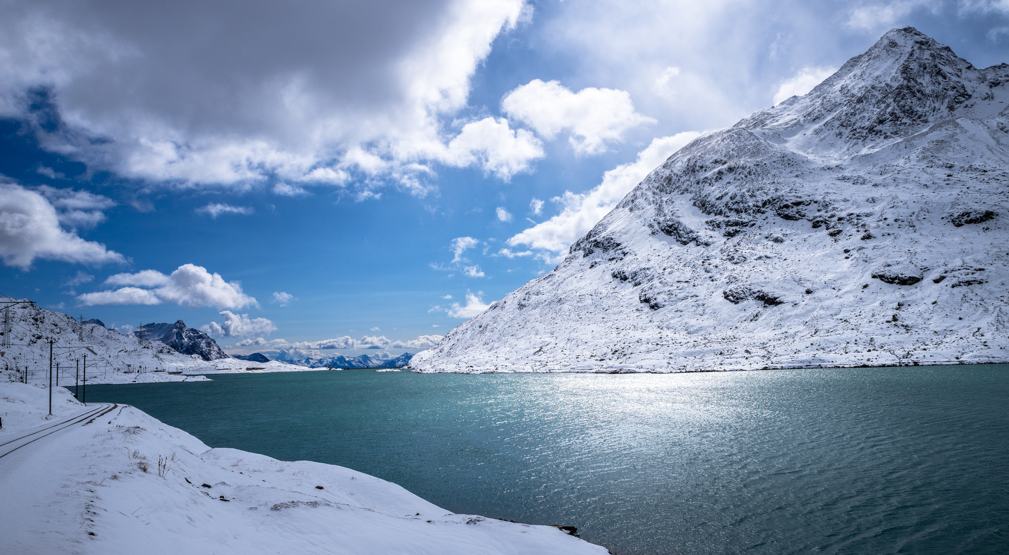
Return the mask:
[[0, 11], [0, 292], [236, 353], [430, 345], [891, 27], [1009, 60], [1005, 1]]

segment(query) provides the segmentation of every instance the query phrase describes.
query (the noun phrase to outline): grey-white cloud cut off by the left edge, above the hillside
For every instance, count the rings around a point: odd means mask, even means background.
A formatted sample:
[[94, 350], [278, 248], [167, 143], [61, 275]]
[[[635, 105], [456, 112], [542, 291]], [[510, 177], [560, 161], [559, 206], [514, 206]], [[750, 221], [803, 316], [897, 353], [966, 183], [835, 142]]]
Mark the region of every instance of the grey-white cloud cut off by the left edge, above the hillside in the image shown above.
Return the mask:
[[64, 231], [49, 200], [14, 183], [0, 184], [0, 257], [7, 266], [22, 270], [36, 258], [81, 264], [126, 261], [101, 243]]

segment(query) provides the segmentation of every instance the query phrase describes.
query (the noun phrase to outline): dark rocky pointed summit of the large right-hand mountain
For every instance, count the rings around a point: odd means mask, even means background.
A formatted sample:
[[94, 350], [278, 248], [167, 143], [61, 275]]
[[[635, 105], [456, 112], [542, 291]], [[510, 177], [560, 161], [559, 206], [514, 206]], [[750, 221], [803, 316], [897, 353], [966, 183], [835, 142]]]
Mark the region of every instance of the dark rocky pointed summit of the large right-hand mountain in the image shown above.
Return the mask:
[[977, 70], [914, 27], [892, 29], [808, 94], [735, 127], [811, 154], [873, 152], [936, 121], [979, 116], [970, 101], [991, 95], [1001, 83], [996, 72]]

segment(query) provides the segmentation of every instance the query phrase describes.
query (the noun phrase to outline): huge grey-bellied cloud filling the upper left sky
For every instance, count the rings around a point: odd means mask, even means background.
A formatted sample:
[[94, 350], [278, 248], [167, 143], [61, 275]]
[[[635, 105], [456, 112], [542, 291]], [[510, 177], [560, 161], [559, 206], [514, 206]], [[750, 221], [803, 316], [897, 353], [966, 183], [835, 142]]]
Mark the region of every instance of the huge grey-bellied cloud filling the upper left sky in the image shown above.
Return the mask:
[[417, 175], [432, 163], [507, 178], [542, 155], [535, 137], [503, 120], [458, 134], [446, 123], [523, 10], [523, 0], [253, 1], [239, 11], [9, 2], [0, 116], [96, 169], [184, 186], [275, 177], [274, 190], [291, 194], [361, 173], [420, 194]]

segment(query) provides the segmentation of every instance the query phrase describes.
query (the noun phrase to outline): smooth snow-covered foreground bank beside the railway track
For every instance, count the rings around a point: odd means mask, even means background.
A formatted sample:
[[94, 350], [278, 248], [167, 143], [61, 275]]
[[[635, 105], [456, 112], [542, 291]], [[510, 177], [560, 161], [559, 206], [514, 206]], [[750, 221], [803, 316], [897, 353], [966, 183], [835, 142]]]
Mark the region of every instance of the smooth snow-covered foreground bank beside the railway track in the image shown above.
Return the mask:
[[[0, 443], [84, 410], [0, 382]], [[0, 458], [4, 553], [597, 554], [550, 526], [457, 515], [342, 466], [210, 448], [128, 405]]]

